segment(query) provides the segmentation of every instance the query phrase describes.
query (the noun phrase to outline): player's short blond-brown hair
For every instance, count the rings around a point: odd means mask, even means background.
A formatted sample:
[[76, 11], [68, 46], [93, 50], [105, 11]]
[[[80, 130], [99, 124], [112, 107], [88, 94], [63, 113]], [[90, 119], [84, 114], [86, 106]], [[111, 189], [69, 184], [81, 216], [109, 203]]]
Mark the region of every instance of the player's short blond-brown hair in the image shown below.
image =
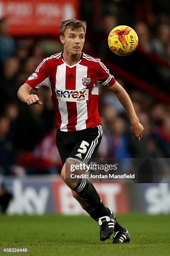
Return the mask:
[[77, 30], [78, 28], [83, 28], [84, 32], [86, 32], [86, 22], [76, 19], [70, 19], [70, 20], [62, 20], [60, 23], [60, 35], [65, 36], [65, 31], [67, 28], [70, 28], [71, 30]]

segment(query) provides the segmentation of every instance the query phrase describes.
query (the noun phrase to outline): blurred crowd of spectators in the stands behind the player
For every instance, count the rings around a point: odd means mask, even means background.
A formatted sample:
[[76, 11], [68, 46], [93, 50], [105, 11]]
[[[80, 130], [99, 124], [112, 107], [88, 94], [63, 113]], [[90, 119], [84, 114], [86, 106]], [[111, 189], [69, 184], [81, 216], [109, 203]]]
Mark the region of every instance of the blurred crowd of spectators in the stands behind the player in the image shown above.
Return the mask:
[[[109, 5], [109, 1], [107, 2]], [[139, 50], [133, 56], [123, 59], [113, 56], [107, 46], [108, 33], [124, 22], [123, 19], [120, 20], [120, 8], [111, 10], [112, 12], [109, 12], [105, 8], [101, 25], [89, 28], [90, 33], [88, 33], [89, 21], [86, 17], [87, 42], [84, 51], [88, 53], [90, 49], [101, 59], [104, 57], [141, 80], [169, 93], [168, 66], [155, 63], [152, 58], [150, 59], [150, 55], [149, 57], [145, 55], [151, 53], [158, 60], [160, 58], [166, 64], [170, 64], [168, 15], [153, 14], [148, 20], [136, 19], [135, 23], [129, 23], [138, 33]], [[92, 29], [94, 36], [91, 33]], [[60, 51], [62, 45], [56, 38], [11, 37], [8, 34], [7, 20], [0, 20], [0, 174], [60, 172], [61, 161], [55, 145], [55, 115], [49, 90], [46, 87], [38, 90], [37, 94], [43, 102], [41, 106], [28, 106], [17, 98], [18, 88], [34, 72], [38, 64], [45, 57]], [[128, 91], [145, 131], [140, 143], [134, 141], [124, 108], [115, 95], [105, 88], [100, 88], [99, 111], [104, 133], [98, 157], [169, 158], [170, 105], [156, 102], [154, 97], [135, 90], [119, 77], [115, 78]]]

